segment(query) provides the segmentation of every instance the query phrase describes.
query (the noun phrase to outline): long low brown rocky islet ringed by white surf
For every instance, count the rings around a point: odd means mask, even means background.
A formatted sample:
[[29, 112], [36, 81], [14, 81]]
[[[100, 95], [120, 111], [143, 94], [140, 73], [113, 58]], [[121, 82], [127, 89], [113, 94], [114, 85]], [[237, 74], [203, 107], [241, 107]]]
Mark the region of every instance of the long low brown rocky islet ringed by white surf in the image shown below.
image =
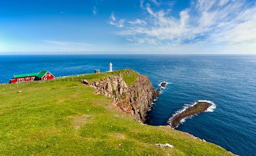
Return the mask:
[[172, 118], [169, 119], [168, 124], [171, 128], [176, 128], [181, 123], [181, 120], [191, 117], [196, 114], [200, 114], [205, 112], [209, 107], [211, 107], [213, 103], [205, 102], [205, 101], [198, 101], [191, 107], [186, 108], [185, 110], [181, 111], [180, 113], [175, 114]]

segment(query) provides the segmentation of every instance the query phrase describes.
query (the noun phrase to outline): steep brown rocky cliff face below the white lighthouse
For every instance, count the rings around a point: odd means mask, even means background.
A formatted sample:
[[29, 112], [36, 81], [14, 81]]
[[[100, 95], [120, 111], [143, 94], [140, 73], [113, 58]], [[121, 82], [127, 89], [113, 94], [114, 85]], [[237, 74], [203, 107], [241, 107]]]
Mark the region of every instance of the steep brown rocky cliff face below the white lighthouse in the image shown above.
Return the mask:
[[127, 85], [120, 74], [95, 81], [90, 86], [97, 89], [96, 93], [113, 98], [117, 107], [141, 122], [145, 122], [146, 113], [160, 94], [150, 80], [140, 74], [131, 85]]

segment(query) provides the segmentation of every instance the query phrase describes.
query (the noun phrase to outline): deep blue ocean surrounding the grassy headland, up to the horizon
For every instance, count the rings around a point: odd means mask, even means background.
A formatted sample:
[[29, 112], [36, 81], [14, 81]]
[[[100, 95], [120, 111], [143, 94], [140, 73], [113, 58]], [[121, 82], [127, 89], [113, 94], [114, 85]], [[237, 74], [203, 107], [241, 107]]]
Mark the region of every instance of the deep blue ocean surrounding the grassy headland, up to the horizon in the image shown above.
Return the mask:
[[0, 83], [13, 74], [47, 69], [55, 76], [130, 68], [166, 88], [148, 114], [147, 124], [166, 125], [174, 113], [198, 100], [215, 104], [179, 125], [207, 142], [239, 155], [256, 151], [256, 56], [248, 55], [36, 55], [0, 56]]

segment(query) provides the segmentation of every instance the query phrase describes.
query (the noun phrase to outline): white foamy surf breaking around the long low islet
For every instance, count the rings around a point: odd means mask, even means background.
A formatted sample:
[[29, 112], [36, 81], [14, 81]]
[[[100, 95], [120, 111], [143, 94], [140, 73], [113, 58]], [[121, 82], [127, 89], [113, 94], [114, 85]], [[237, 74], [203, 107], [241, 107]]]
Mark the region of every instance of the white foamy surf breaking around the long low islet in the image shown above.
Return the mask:
[[[198, 102], [207, 102], [207, 103], [211, 103], [211, 106], [210, 106], [208, 109], [206, 109], [205, 112], [213, 112], [214, 109], [216, 108], [215, 103], [214, 103], [214, 102], [211, 102], [210, 100], [198, 100], [197, 102], [194, 102], [194, 103], [192, 103], [192, 104], [184, 104], [184, 106], [183, 106], [182, 109], [180, 109], [180, 110], [174, 112], [174, 114], [171, 115], [171, 118], [168, 119], [167, 124], [171, 126], [171, 120], [173, 119], [173, 117], [174, 117], [175, 115], [177, 115], [177, 114], [179, 114], [179, 113], [181, 113], [181, 112], [184, 112], [184, 111], [185, 111], [186, 109], [188, 109], [189, 107], [193, 107], [193, 106], [194, 106], [195, 104], [197, 104]], [[197, 114], [196, 114], [196, 115], [197, 115]], [[190, 117], [186, 117], [186, 118], [181, 119], [180, 124], [183, 124], [183, 123], [186, 121], [186, 119], [192, 118], [192, 117], [194, 117], [194, 115], [191, 115]], [[179, 125], [178, 125], [177, 127], [179, 127]], [[177, 127], [175, 127], [175, 128], [177, 128]], [[174, 128], [173, 128], [173, 129], [174, 129]]]

